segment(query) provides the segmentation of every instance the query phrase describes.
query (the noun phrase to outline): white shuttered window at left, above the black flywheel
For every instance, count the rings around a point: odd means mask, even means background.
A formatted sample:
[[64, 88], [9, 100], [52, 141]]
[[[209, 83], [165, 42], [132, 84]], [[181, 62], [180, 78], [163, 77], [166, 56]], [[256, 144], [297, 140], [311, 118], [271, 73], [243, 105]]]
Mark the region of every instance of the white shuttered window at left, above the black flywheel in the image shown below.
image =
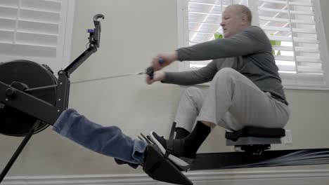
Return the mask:
[[60, 70], [70, 60], [73, 10], [72, 0], [1, 0], [0, 62], [32, 60]]

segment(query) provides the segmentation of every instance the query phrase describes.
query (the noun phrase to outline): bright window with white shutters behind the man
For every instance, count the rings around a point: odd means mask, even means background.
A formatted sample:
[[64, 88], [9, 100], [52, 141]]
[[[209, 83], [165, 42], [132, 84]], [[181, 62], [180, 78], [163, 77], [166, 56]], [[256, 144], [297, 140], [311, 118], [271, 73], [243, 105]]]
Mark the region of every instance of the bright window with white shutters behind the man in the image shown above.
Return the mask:
[[[329, 89], [329, 58], [318, 1], [182, 0], [179, 1], [179, 47], [211, 41], [222, 33], [221, 13], [231, 4], [252, 11], [252, 25], [264, 29], [285, 88]], [[181, 62], [180, 70], [198, 69], [209, 61]]]

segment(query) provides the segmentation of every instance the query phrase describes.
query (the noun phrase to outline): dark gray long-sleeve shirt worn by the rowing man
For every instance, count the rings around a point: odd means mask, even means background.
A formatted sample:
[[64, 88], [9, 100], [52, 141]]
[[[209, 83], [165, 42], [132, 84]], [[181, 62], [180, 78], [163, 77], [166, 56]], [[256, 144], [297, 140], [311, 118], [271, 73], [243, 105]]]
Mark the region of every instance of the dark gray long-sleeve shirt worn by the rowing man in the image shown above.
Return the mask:
[[288, 104], [272, 55], [269, 38], [259, 27], [245, 27], [226, 39], [217, 39], [176, 50], [180, 61], [212, 60], [195, 71], [166, 72], [163, 83], [195, 85], [212, 81], [217, 71], [231, 67], [245, 75], [259, 89], [269, 92], [276, 100]]

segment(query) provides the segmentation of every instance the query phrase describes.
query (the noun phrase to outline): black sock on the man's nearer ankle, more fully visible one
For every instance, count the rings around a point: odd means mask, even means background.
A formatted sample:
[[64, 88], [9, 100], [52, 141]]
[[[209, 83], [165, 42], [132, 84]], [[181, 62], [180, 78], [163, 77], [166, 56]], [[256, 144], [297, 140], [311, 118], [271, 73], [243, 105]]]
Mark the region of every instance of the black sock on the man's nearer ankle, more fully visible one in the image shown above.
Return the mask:
[[184, 138], [185, 150], [189, 153], [196, 153], [210, 132], [211, 129], [207, 125], [198, 121], [191, 134]]

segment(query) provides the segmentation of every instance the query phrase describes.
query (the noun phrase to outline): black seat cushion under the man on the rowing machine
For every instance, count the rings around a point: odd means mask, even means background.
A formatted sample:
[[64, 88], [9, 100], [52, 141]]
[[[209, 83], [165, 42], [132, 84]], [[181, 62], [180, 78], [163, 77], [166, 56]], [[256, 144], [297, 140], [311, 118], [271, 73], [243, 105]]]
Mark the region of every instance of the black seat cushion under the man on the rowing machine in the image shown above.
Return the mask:
[[232, 141], [238, 140], [239, 137], [284, 137], [285, 130], [283, 128], [257, 128], [245, 127], [236, 132], [226, 132], [226, 139]]

